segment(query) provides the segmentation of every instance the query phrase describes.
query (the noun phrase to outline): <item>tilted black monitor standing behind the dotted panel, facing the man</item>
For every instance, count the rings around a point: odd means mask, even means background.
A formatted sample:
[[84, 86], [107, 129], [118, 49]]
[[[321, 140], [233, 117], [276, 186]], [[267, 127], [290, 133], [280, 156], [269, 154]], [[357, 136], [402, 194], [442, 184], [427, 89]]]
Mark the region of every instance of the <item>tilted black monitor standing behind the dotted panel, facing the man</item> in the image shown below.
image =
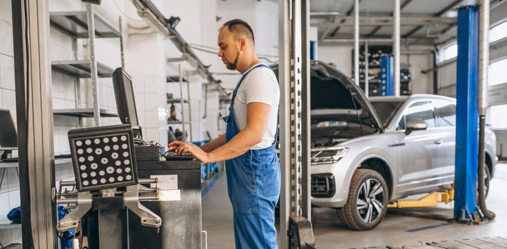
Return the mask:
[[121, 68], [113, 73], [113, 87], [115, 89], [116, 108], [122, 123], [139, 126], [135, 108], [132, 78]]

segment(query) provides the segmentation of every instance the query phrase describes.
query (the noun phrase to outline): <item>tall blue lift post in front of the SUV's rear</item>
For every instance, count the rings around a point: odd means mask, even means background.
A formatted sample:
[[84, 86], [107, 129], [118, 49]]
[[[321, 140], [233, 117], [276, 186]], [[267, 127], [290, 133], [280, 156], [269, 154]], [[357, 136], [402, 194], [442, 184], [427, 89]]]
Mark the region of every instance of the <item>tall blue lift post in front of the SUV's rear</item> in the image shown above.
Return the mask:
[[[477, 208], [479, 19], [475, 6], [458, 10], [454, 220], [481, 219]], [[476, 220], [477, 222], [477, 220]]]

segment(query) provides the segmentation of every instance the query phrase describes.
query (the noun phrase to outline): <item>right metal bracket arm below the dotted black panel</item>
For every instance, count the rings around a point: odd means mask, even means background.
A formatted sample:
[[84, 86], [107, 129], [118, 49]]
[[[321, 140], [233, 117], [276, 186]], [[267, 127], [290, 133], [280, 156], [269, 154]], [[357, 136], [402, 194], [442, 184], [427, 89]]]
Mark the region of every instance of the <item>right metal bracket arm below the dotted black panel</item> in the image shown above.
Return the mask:
[[162, 225], [162, 219], [139, 202], [139, 184], [127, 186], [127, 191], [123, 194], [123, 199], [126, 208], [139, 216], [141, 225], [155, 227], [158, 232]]

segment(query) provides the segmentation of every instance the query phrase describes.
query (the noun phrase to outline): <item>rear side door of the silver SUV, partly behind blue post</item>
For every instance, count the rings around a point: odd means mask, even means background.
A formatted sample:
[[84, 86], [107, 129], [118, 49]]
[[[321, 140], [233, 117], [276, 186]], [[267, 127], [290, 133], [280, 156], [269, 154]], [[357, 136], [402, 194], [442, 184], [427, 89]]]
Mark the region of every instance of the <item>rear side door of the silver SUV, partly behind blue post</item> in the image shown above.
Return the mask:
[[456, 151], [456, 103], [449, 100], [434, 100], [437, 126], [442, 132], [442, 148], [444, 157], [439, 176], [442, 184], [454, 182], [455, 151]]

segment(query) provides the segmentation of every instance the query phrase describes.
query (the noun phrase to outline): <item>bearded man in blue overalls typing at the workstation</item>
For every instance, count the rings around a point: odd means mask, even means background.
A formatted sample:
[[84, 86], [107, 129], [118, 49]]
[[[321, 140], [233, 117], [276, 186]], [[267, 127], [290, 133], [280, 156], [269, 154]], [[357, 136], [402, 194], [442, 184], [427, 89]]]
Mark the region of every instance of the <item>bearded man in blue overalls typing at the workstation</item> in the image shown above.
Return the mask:
[[233, 92], [227, 131], [197, 147], [175, 141], [178, 153], [203, 163], [224, 161], [234, 210], [236, 248], [277, 248], [275, 205], [280, 194], [280, 164], [275, 152], [280, 90], [273, 71], [257, 58], [253, 31], [235, 19], [219, 30], [218, 56], [242, 76]]

